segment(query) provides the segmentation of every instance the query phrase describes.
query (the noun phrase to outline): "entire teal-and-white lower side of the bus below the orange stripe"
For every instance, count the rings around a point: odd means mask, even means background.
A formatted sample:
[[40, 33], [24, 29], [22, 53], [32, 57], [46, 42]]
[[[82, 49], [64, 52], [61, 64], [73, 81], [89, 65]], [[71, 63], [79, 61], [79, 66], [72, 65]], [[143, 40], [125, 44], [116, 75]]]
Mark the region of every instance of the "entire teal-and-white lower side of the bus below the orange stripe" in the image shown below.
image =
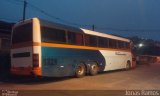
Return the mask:
[[100, 72], [126, 68], [129, 52], [42, 47], [42, 76], [73, 76], [81, 62], [97, 62]]

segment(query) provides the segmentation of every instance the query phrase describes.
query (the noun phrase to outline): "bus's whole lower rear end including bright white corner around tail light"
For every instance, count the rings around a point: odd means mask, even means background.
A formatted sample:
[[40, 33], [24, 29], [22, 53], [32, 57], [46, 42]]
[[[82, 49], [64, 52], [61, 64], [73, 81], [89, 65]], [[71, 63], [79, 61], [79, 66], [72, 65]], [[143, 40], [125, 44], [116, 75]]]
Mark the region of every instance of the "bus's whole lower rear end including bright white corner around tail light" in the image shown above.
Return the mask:
[[[25, 54], [27, 56], [23, 56]], [[14, 55], [22, 54], [21, 56]], [[38, 54], [37, 62], [38, 67], [34, 68], [34, 54]], [[11, 49], [11, 73], [15, 75], [37, 75], [41, 76], [41, 47], [40, 46], [31, 46]]]

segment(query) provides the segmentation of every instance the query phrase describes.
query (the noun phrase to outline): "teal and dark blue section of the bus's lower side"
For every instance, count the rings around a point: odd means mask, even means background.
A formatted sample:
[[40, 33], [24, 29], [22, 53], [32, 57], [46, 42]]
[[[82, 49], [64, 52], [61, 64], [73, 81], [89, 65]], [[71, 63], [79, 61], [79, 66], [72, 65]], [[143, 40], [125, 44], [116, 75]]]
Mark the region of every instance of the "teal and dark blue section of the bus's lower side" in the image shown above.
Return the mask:
[[42, 47], [42, 75], [71, 76], [80, 63], [97, 62], [100, 71], [105, 68], [105, 59], [98, 50]]

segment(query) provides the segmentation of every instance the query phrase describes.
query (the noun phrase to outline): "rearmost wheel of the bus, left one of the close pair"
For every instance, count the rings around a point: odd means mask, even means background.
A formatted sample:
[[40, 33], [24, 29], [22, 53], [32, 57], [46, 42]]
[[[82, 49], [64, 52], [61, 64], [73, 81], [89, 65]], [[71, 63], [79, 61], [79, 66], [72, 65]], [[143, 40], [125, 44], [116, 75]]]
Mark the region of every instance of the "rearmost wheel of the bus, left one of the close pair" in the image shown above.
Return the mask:
[[85, 76], [85, 74], [86, 74], [86, 67], [85, 67], [85, 65], [83, 63], [81, 63], [76, 68], [75, 76], [77, 78], [81, 78], [81, 77]]

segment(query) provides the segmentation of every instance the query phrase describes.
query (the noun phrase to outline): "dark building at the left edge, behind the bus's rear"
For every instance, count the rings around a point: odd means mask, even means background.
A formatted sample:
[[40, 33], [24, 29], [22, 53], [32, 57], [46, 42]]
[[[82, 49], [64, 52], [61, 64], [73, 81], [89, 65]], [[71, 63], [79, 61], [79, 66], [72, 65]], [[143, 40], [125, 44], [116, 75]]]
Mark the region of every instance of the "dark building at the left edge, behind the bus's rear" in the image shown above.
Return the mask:
[[13, 23], [0, 21], [0, 79], [10, 74], [10, 44]]

